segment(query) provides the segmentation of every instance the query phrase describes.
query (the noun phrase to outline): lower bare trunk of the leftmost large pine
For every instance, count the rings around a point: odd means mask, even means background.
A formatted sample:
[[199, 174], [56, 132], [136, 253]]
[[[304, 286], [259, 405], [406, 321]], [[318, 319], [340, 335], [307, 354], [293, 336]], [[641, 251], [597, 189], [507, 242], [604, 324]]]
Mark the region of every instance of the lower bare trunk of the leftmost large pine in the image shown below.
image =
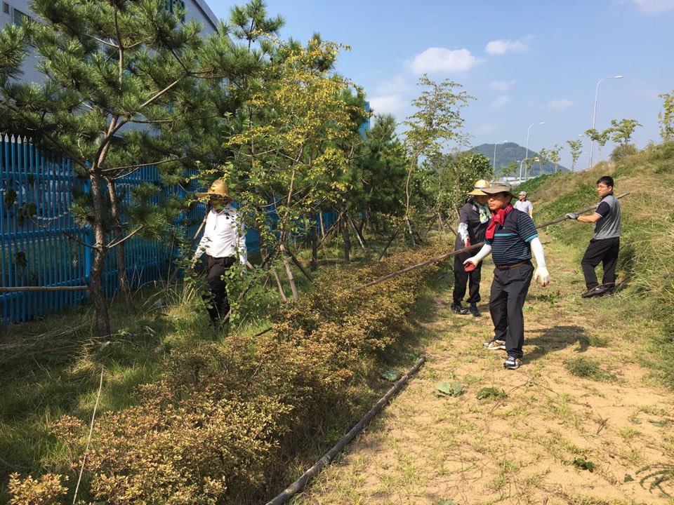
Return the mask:
[[103, 291], [103, 267], [105, 266], [105, 227], [103, 226], [103, 197], [100, 194], [100, 175], [91, 173], [91, 198], [93, 200], [93, 231], [95, 254], [89, 273], [89, 294], [95, 307], [96, 329], [102, 339], [110, 338], [110, 316], [107, 313], [105, 292]]

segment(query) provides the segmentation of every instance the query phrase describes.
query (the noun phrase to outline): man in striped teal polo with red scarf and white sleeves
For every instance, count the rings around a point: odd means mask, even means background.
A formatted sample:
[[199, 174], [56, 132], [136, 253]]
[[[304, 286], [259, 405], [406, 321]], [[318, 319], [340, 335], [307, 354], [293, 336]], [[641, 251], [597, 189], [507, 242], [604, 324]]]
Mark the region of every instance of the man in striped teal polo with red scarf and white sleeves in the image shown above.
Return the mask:
[[[494, 322], [494, 339], [486, 344], [488, 349], [505, 349], [508, 358], [503, 367], [520, 368], [524, 345], [524, 299], [527, 298], [531, 277], [546, 286], [550, 274], [546, 268], [543, 245], [538, 239], [536, 226], [527, 213], [510, 205], [513, 189], [507, 182], [492, 182], [482, 189], [489, 195], [491, 220], [487, 226], [482, 249], [464, 263], [477, 266], [491, 253], [494, 260], [494, 281], [491, 283], [489, 311]], [[531, 253], [536, 257], [536, 273], [531, 264]]]

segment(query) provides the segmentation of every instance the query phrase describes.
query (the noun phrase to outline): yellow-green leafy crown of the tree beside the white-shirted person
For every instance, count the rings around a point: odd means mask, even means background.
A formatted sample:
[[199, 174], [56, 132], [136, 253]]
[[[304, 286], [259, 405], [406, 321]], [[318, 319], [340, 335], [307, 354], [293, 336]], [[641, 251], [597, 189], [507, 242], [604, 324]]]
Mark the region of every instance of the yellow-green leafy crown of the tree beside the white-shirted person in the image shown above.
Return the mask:
[[[338, 201], [348, 188], [355, 147], [344, 146], [355, 146], [364, 109], [345, 100], [343, 92], [354, 86], [330, 70], [342, 47], [316, 36], [305, 47], [278, 42], [262, 74], [265, 86], [249, 99], [254, 121], [225, 142], [234, 165], [220, 175], [237, 188], [267, 244], [303, 231], [317, 202]], [[270, 205], [279, 216], [273, 224]]]

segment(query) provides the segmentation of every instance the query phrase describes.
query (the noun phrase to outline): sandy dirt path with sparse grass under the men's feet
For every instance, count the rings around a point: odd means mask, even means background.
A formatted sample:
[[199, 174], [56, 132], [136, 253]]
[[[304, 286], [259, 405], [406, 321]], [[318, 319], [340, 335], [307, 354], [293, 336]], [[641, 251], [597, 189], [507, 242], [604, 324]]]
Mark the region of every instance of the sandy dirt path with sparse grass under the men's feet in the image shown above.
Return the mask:
[[[576, 253], [546, 244], [553, 284], [529, 291], [519, 370], [482, 347], [492, 335], [485, 301], [480, 318], [456, 316], [451, 291], [439, 293], [418, 377], [292, 503], [674, 504], [663, 494], [674, 496], [672, 473], [651, 488], [656, 472], [674, 471], [674, 393], [639, 363], [653, 330], [621, 313], [623, 293], [581, 299]], [[483, 297], [490, 283], [487, 267]], [[463, 394], [439, 396], [440, 381]], [[477, 399], [492, 386], [507, 396]]]

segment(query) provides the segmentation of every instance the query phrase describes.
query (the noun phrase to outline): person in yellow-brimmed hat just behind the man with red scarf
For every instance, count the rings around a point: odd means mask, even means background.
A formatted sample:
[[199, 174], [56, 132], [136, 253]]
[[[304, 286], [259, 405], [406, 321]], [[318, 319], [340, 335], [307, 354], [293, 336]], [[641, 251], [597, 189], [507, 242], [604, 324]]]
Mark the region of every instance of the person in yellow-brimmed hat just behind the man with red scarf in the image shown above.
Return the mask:
[[[487, 206], [487, 193], [482, 189], [488, 188], [489, 182], [479, 180], [473, 184], [473, 191], [467, 194], [468, 202], [458, 210], [458, 229], [454, 250], [459, 250], [484, 241], [484, 231], [487, 230], [487, 223], [491, 218], [489, 206]], [[456, 314], [473, 314], [480, 316], [477, 310], [477, 302], [480, 302], [480, 278], [482, 278], [482, 263], [478, 264], [472, 271], [465, 271], [463, 262], [468, 260], [472, 253], [463, 253], [454, 256], [454, 294], [451, 311]], [[468, 294], [468, 303], [470, 306], [465, 309], [461, 302], [465, 295], [466, 284], [470, 280], [470, 292]]]

